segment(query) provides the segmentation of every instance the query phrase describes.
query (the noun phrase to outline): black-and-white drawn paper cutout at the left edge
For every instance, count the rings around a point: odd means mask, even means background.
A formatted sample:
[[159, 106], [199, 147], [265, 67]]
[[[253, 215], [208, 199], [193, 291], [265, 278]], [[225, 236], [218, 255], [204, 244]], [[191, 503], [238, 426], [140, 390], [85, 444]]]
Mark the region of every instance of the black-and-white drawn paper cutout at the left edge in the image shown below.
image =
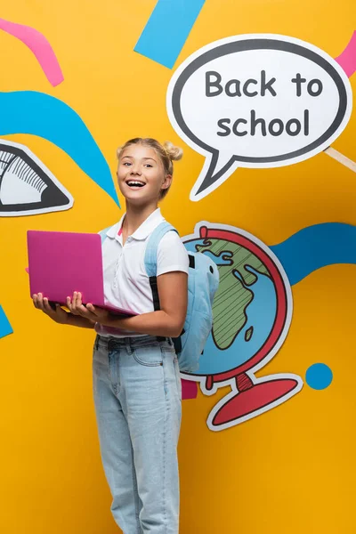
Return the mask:
[[27, 147], [0, 139], [0, 216], [44, 214], [73, 206], [61, 182]]

